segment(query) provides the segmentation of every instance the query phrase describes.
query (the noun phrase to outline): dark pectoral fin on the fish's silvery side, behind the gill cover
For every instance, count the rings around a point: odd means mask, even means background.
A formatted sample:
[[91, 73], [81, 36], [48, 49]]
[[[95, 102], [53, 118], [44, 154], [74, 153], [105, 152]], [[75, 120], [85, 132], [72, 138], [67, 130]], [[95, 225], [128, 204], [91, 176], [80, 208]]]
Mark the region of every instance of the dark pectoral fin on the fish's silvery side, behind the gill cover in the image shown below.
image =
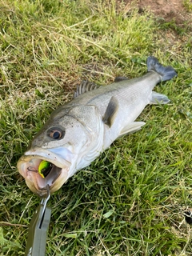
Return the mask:
[[107, 126], [112, 126], [117, 113], [118, 113], [118, 100], [113, 96], [110, 98], [110, 102], [106, 107], [106, 112], [102, 118], [102, 121]]

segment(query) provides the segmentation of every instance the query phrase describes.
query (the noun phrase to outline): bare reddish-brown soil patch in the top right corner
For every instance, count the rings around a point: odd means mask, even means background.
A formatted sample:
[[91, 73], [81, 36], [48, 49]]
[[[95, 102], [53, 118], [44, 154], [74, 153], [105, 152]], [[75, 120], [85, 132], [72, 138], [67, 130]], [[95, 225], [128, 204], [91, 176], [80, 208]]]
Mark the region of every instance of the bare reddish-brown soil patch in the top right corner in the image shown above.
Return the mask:
[[[166, 22], [174, 21], [178, 26], [184, 24], [191, 26], [192, 13], [186, 9], [182, 0], [124, 0], [124, 2], [127, 10], [136, 2], [140, 12], [150, 10], [156, 18], [163, 18]], [[189, 2], [191, 5], [191, 0]]]

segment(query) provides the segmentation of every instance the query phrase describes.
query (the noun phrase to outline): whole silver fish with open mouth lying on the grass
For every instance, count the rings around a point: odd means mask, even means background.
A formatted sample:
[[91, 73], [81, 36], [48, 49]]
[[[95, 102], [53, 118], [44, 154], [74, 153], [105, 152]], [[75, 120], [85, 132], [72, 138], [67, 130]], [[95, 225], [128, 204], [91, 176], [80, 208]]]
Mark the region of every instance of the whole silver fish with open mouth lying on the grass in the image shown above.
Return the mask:
[[147, 73], [139, 78], [116, 78], [107, 86], [83, 81], [74, 99], [50, 114], [18, 160], [17, 168], [26, 185], [40, 197], [59, 190], [78, 170], [89, 166], [116, 138], [141, 129], [136, 122], [148, 104], [170, 102], [154, 92], [159, 82], [177, 76], [158, 58], [146, 60]]

